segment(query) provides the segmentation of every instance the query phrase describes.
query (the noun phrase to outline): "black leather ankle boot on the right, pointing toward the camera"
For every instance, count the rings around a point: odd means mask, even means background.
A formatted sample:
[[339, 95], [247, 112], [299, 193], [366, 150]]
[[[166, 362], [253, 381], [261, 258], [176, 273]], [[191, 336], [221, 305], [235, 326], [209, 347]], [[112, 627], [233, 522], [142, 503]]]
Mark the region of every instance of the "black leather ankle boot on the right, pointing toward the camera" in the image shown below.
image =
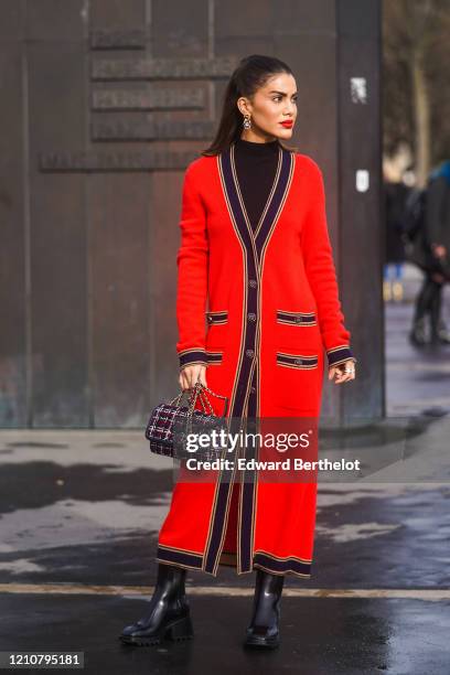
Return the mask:
[[244, 646], [274, 649], [280, 643], [280, 599], [283, 575], [256, 570], [255, 598]]

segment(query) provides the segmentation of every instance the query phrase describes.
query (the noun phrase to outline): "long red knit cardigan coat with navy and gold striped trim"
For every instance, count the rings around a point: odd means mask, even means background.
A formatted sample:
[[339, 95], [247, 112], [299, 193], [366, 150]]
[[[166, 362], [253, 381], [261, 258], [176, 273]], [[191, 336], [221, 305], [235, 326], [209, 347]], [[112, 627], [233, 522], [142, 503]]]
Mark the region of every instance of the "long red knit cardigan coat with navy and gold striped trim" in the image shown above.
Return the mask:
[[[326, 225], [322, 172], [280, 146], [253, 231], [234, 144], [186, 169], [178, 253], [180, 368], [207, 366], [228, 416], [314, 417], [323, 369], [353, 358]], [[207, 308], [207, 309], [206, 309]], [[217, 415], [223, 401], [208, 396]], [[256, 474], [255, 474], [256, 475]], [[311, 576], [317, 482], [176, 482], [157, 560], [217, 575]]]

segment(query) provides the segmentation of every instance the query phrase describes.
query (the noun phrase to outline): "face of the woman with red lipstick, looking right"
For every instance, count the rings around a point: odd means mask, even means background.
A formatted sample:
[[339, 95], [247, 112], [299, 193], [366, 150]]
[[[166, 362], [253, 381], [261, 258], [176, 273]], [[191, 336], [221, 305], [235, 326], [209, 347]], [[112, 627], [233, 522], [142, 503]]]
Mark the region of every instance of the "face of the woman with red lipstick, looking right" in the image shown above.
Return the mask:
[[251, 120], [250, 129], [243, 128], [244, 140], [290, 139], [297, 118], [296, 81], [288, 73], [274, 75], [256, 90], [251, 100], [242, 96], [237, 106]]

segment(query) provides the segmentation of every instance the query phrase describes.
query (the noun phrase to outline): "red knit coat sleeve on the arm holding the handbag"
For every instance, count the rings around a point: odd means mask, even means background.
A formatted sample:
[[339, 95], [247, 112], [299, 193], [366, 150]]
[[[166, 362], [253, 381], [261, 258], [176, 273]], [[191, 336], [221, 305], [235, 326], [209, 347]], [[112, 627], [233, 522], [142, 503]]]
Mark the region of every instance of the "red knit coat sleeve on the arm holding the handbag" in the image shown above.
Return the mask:
[[194, 363], [207, 365], [205, 306], [207, 298], [208, 240], [206, 213], [199, 179], [190, 164], [184, 174], [181, 207], [181, 245], [176, 254], [176, 352], [180, 369]]

